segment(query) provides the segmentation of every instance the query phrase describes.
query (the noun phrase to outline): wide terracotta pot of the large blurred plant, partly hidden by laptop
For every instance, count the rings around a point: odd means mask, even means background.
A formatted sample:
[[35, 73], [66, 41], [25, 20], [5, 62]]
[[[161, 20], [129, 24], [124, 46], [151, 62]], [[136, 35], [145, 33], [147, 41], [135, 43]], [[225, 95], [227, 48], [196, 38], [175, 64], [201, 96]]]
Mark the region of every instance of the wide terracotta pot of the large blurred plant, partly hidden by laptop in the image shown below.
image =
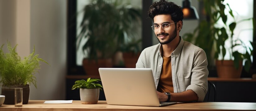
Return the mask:
[[86, 75], [97, 75], [99, 76], [99, 68], [112, 68], [112, 59], [98, 59], [95, 60], [83, 60], [83, 67]]

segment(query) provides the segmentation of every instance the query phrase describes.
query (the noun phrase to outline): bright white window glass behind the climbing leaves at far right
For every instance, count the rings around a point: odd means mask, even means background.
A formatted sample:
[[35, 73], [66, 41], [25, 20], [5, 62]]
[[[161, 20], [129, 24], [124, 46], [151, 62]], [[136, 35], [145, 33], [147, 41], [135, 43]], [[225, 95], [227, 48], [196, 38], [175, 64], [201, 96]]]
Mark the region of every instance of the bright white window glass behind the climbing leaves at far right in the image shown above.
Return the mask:
[[[233, 10], [233, 15], [235, 17], [235, 21], [237, 22], [234, 29], [233, 40], [240, 39], [247, 46], [247, 50], [249, 50], [249, 47], [252, 48], [250, 42], [253, 41], [253, 0], [243, 0], [242, 2], [238, 0], [225, 0], [223, 2], [223, 4], [227, 3], [230, 5], [231, 10]], [[225, 9], [225, 14], [228, 15], [226, 24], [234, 22], [234, 19], [229, 14], [229, 10]], [[218, 21], [218, 25], [224, 25], [221, 19]], [[226, 40], [225, 47], [231, 47], [230, 39]], [[245, 53], [245, 48], [242, 46], [234, 47], [233, 50], [239, 51], [240, 53]], [[230, 60], [230, 53], [228, 53], [228, 50], [226, 50], [226, 52], [227, 53], [224, 57], [224, 60]], [[221, 58], [219, 57], [219, 59]]]

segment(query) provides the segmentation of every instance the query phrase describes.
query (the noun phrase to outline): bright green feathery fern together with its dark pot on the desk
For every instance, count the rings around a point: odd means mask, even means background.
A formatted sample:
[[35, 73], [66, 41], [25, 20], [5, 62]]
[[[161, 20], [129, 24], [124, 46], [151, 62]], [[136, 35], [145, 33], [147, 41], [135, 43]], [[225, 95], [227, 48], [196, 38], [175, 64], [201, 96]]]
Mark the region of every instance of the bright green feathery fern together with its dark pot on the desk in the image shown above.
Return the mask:
[[21, 57], [15, 51], [17, 45], [12, 48], [10, 42], [8, 42], [7, 48], [10, 52], [6, 54], [3, 52], [3, 46], [0, 48], [0, 83], [3, 84], [4, 104], [14, 105], [14, 88], [23, 88], [23, 104], [27, 104], [30, 92], [29, 84], [32, 83], [36, 87], [34, 74], [40, 69], [39, 61], [48, 63], [38, 58], [39, 55], [34, 55], [35, 48], [28, 57], [21, 60]]

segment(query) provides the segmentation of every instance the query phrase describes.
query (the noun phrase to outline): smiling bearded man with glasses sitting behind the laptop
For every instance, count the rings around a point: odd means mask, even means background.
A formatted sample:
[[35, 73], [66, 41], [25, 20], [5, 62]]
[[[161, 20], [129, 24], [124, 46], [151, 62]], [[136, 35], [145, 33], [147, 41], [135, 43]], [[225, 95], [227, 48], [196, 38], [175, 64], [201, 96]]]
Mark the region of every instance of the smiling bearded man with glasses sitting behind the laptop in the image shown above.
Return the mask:
[[136, 68], [151, 68], [160, 102], [203, 101], [208, 88], [207, 58], [203, 49], [183, 41], [179, 32], [183, 12], [173, 2], [160, 0], [149, 7], [159, 44], [145, 48]]

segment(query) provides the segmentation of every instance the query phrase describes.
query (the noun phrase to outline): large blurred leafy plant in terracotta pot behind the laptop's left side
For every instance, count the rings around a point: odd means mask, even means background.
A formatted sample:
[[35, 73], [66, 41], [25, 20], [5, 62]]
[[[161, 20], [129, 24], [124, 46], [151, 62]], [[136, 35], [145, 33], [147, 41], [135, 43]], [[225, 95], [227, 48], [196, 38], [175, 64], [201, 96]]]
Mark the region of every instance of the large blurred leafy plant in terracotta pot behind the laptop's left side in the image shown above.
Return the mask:
[[85, 6], [76, 44], [87, 55], [83, 60], [86, 74], [99, 75], [98, 68], [112, 67], [111, 58], [123, 43], [130, 42], [133, 24], [139, 18], [140, 10], [117, 1], [92, 0]]

